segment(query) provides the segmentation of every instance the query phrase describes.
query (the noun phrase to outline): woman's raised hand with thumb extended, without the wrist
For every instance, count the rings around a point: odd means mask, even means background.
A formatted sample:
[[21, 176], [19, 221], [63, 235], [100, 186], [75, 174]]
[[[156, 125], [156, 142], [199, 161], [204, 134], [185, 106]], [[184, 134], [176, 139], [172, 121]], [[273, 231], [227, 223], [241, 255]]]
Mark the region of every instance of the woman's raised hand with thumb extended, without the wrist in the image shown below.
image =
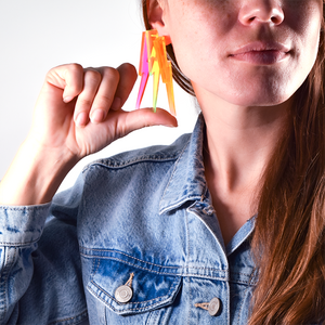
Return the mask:
[[60, 148], [77, 159], [93, 154], [129, 132], [153, 125], [177, 126], [166, 110], [123, 112], [136, 70], [130, 64], [82, 68], [69, 64], [51, 69], [35, 108], [28, 141]]

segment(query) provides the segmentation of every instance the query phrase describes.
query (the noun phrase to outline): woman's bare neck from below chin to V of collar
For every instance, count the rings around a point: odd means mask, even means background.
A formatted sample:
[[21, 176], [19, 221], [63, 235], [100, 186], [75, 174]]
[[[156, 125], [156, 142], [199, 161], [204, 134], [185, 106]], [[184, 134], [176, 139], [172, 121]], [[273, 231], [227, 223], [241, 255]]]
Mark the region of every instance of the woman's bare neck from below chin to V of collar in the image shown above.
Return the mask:
[[272, 107], [199, 104], [207, 126], [206, 179], [227, 244], [257, 212], [261, 177], [282, 136], [290, 103]]

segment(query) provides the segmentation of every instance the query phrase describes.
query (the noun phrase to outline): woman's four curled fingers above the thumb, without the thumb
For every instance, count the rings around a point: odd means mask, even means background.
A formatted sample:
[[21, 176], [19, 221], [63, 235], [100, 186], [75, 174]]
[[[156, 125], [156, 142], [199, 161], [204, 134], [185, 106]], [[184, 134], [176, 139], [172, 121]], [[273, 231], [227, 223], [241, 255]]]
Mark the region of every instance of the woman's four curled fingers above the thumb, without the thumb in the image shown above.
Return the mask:
[[[83, 74], [83, 76], [82, 76]], [[64, 70], [66, 86], [64, 101], [68, 103], [78, 96], [74, 119], [78, 127], [84, 127], [89, 119], [93, 123], [105, 120], [108, 110], [120, 109], [127, 101], [138, 74], [131, 64], [112, 67], [86, 68], [79, 65]]]

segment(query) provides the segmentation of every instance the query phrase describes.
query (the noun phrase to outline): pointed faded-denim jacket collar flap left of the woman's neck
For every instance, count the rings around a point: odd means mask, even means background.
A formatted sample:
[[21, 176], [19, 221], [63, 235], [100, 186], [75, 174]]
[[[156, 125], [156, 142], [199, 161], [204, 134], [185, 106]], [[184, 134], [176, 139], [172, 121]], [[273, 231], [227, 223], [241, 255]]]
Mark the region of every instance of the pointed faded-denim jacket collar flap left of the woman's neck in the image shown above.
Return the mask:
[[205, 121], [200, 114], [196, 126], [176, 161], [159, 206], [159, 214], [179, 208], [186, 202], [203, 200], [207, 192], [203, 161]]

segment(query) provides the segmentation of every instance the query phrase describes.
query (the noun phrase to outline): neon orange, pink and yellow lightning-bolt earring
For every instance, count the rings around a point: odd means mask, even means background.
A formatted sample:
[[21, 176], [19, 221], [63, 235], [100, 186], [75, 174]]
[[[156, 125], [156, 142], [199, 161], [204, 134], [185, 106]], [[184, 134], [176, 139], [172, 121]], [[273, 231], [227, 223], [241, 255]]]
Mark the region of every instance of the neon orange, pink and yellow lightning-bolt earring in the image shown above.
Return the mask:
[[153, 107], [154, 112], [156, 112], [159, 80], [161, 76], [162, 82], [166, 84], [167, 89], [170, 113], [176, 116], [171, 62], [167, 60], [165, 37], [159, 37], [156, 29], [146, 30], [142, 34], [139, 75], [141, 76], [141, 83], [136, 100], [136, 108], [140, 108], [148, 76], [153, 76]]

